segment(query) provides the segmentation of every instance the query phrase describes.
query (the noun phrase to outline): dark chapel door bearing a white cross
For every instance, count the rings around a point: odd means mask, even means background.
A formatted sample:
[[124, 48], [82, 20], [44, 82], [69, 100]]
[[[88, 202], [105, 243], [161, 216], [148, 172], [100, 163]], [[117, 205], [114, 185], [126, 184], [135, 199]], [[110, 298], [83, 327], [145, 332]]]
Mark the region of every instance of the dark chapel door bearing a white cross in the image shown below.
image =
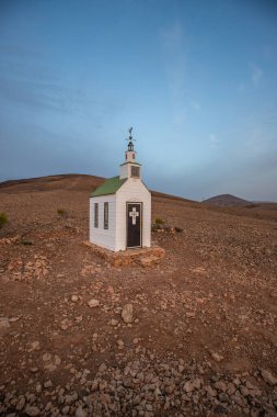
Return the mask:
[[141, 203], [127, 203], [127, 248], [141, 246]]

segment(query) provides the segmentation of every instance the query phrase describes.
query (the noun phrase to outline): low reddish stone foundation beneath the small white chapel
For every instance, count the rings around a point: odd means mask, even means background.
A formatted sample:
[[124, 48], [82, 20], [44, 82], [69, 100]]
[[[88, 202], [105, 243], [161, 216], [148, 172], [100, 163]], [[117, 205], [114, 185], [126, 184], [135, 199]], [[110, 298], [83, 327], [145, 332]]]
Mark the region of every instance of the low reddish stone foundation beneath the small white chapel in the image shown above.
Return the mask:
[[139, 264], [145, 268], [151, 267], [152, 264], [159, 263], [160, 259], [165, 256], [165, 250], [158, 246], [113, 252], [106, 248], [93, 245], [90, 241], [83, 241], [83, 245], [91, 248], [95, 255], [105, 259], [113, 267], [126, 267], [130, 264]]

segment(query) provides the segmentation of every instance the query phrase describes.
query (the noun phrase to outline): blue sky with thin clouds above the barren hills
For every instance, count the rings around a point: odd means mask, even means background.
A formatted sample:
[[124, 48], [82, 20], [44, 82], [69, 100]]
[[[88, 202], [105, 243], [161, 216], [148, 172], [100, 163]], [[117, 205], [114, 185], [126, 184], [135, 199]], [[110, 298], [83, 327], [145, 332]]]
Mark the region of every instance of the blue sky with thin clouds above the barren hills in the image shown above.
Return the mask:
[[112, 177], [277, 201], [277, 3], [1, 0], [0, 181]]

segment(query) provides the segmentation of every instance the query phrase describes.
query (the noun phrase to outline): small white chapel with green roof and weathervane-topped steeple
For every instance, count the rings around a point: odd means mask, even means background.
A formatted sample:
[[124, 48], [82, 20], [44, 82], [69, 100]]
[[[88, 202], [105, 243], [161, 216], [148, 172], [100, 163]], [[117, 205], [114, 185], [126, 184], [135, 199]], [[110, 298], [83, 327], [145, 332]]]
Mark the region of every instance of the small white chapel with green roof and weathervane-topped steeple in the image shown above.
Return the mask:
[[90, 196], [90, 241], [113, 251], [151, 246], [151, 193], [141, 181], [131, 132], [119, 176]]

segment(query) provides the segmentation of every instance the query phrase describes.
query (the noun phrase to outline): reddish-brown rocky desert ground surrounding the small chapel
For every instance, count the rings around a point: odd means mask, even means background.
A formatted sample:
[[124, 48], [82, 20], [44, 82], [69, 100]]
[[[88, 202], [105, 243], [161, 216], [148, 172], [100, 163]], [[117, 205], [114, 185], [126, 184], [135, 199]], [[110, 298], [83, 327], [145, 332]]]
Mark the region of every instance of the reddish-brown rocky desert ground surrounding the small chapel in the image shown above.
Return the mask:
[[83, 245], [102, 180], [0, 188], [0, 415], [276, 416], [276, 206], [154, 193], [183, 232], [152, 233], [159, 264], [115, 268]]

